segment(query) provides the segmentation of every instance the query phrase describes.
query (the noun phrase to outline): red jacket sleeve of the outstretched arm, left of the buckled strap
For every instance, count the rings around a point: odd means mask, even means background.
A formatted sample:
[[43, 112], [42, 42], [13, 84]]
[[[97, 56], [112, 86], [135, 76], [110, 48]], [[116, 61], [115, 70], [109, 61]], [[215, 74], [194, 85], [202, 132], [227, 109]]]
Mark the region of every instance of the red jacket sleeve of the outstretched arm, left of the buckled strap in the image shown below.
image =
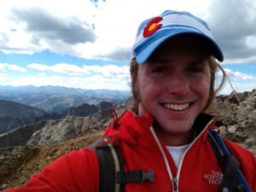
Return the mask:
[[96, 154], [90, 148], [61, 156], [41, 172], [33, 175], [21, 188], [4, 192], [97, 192], [99, 167]]

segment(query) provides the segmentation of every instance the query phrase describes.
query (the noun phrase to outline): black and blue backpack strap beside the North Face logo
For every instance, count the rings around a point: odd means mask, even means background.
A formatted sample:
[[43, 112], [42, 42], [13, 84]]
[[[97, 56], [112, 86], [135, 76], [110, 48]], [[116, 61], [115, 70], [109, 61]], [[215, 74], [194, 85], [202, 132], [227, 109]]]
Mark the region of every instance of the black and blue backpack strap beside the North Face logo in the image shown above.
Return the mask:
[[223, 171], [223, 179], [218, 191], [252, 192], [246, 179], [241, 174], [239, 162], [233, 154], [230, 153], [230, 150], [224, 144], [218, 133], [214, 130], [210, 130], [207, 134], [207, 139], [218, 160], [218, 165]]

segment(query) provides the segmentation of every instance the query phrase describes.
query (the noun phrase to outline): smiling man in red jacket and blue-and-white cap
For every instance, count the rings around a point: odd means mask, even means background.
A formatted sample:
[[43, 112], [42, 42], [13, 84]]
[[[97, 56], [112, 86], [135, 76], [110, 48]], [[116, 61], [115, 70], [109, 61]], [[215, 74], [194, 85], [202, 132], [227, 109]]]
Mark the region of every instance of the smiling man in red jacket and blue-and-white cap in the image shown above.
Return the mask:
[[[149, 180], [125, 183], [126, 192], [218, 191], [223, 171], [207, 140], [217, 119], [203, 113], [225, 79], [215, 58], [224, 59], [207, 24], [187, 12], [165, 11], [139, 26], [131, 60], [135, 108], [103, 135], [119, 146], [125, 172], [152, 173]], [[224, 77], [215, 90], [218, 68]], [[256, 191], [255, 157], [236, 143], [225, 143]], [[55, 160], [23, 188], [6, 192], [96, 192], [100, 174], [95, 152], [83, 148]]]

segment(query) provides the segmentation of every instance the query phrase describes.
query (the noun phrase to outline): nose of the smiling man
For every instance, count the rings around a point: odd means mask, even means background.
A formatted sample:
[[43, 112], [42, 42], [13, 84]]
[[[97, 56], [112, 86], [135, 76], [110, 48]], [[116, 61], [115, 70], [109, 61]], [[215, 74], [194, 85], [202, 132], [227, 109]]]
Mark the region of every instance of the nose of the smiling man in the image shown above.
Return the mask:
[[184, 73], [172, 73], [167, 79], [167, 91], [176, 96], [186, 96], [189, 94], [189, 77]]

